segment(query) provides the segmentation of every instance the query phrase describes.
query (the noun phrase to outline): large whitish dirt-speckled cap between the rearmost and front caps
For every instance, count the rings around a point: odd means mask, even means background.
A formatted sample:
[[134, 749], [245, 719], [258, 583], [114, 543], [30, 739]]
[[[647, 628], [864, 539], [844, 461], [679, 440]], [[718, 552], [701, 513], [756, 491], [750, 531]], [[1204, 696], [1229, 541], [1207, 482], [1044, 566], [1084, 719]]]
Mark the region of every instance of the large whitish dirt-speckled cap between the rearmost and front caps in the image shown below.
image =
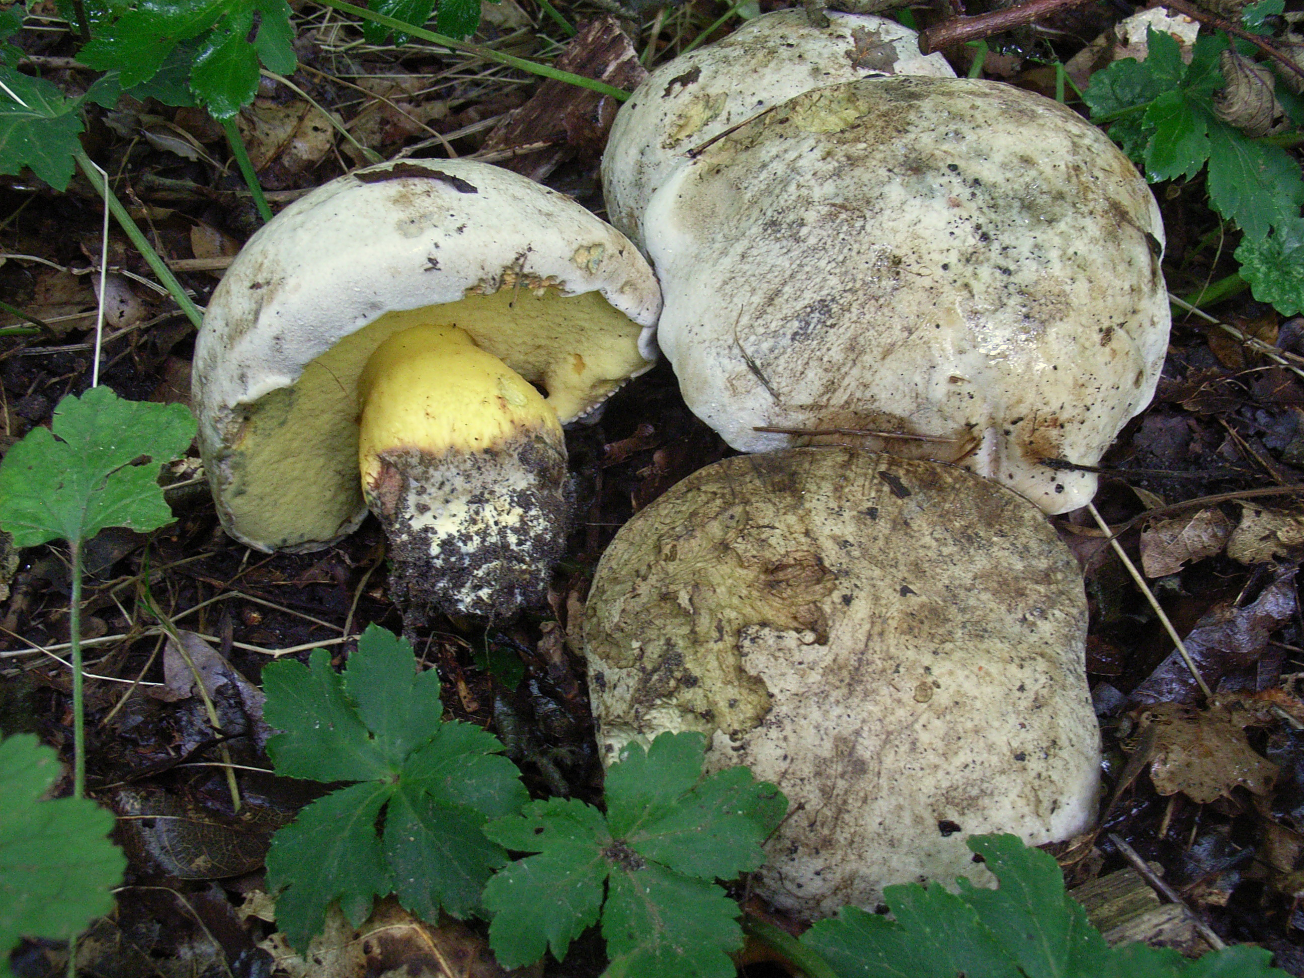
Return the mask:
[[998, 479], [1047, 512], [1150, 400], [1170, 312], [1159, 210], [1099, 129], [965, 78], [798, 95], [668, 177], [648, 207], [657, 339], [739, 451], [788, 429]]

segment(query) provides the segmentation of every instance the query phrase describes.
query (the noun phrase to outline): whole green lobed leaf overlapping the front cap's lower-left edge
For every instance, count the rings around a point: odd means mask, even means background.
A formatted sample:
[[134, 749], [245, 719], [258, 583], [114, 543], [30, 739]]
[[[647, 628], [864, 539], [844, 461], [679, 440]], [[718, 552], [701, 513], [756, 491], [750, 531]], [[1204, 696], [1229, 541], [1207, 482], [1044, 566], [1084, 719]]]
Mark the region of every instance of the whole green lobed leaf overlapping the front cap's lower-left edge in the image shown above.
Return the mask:
[[[709, 880], [762, 862], [760, 841], [786, 799], [746, 768], [702, 777], [705, 737], [661, 734], [630, 745], [606, 772], [606, 810], [553, 798], [485, 825], [516, 852], [485, 888], [489, 945], [506, 968], [559, 960], [599, 921], [608, 975], [728, 978], [742, 945], [738, 905]], [[608, 897], [602, 906], [602, 883]]]

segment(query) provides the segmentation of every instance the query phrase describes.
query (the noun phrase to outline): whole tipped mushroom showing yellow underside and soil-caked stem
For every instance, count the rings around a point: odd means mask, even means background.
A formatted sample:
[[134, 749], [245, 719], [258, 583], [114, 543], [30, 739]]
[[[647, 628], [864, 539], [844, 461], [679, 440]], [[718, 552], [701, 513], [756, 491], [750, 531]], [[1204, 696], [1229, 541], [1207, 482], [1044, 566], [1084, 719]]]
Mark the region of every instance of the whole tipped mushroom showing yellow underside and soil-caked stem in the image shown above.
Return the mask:
[[249, 240], [200, 330], [222, 526], [316, 550], [369, 505], [398, 596], [507, 617], [565, 546], [562, 424], [651, 366], [659, 310], [623, 235], [516, 173], [407, 160], [334, 180]]

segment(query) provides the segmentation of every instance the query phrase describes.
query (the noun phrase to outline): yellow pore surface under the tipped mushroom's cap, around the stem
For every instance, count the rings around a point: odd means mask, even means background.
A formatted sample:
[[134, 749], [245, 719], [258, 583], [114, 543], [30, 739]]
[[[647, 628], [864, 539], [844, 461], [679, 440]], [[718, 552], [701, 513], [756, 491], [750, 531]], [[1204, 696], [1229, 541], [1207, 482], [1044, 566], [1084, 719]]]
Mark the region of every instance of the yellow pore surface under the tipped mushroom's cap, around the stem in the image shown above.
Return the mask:
[[365, 511], [357, 477], [357, 381], [376, 348], [421, 325], [464, 330], [570, 421], [645, 366], [642, 327], [597, 292], [507, 287], [493, 295], [386, 313], [309, 363], [291, 387], [244, 406], [224, 464], [222, 494], [232, 528], [269, 550], [316, 549]]

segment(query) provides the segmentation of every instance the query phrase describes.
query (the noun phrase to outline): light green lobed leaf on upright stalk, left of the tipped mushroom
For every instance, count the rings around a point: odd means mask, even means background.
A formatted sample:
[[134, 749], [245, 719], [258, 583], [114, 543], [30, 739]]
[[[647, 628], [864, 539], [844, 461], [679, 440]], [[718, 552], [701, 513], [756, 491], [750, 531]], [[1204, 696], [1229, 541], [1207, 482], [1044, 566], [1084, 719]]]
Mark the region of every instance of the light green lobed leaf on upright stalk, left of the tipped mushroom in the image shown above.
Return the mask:
[[64, 398], [52, 426], [31, 429], [0, 463], [0, 527], [14, 545], [35, 546], [171, 523], [159, 464], [184, 452], [194, 429], [180, 404], [120, 400], [108, 387]]

